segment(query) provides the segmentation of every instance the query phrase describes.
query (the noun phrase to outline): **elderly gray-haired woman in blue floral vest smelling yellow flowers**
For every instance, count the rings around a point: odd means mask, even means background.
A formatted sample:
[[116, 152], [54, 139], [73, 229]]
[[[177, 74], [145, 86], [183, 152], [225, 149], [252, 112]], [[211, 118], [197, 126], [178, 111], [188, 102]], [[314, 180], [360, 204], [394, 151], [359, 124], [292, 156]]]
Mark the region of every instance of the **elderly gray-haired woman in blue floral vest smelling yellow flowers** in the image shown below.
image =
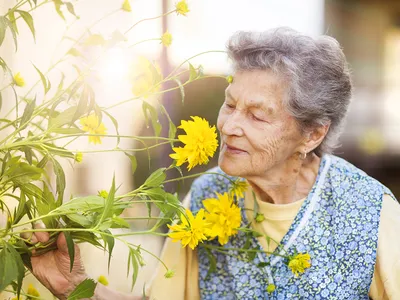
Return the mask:
[[[238, 32], [228, 53], [234, 75], [218, 116], [221, 149], [214, 171], [249, 183], [238, 199], [242, 225], [271, 239], [238, 234], [226, 247], [247, 242], [277, 255], [260, 251], [242, 260], [237, 253], [212, 250], [216, 271], [207, 274], [205, 249], [168, 240], [163, 259], [176, 274], [165, 279], [160, 271], [150, 298], [400, 299], [400, 206], [385, 186], [331, 154], [352, 94], [338, 43], [279, 28]], [[186, 204], [198, 211], [202, 200], [229, 188], [226, 176], [203, 175]], [[251, 221], [255, 204], [263, 216], [258, 222]], [[65, 297], [85, 274], [78, 260], [77, 271], [69, 274], [62, 236], [59, 246], [46, 254], [51, 259], [36, 257], [32, 263], [39, 279]], [[296, 253], [311, 257], [301, 276], [279, 256]], [[43, 274], [44, 267], [57, 274]], [[133, 298], [99, 285], [96, 299]]]

